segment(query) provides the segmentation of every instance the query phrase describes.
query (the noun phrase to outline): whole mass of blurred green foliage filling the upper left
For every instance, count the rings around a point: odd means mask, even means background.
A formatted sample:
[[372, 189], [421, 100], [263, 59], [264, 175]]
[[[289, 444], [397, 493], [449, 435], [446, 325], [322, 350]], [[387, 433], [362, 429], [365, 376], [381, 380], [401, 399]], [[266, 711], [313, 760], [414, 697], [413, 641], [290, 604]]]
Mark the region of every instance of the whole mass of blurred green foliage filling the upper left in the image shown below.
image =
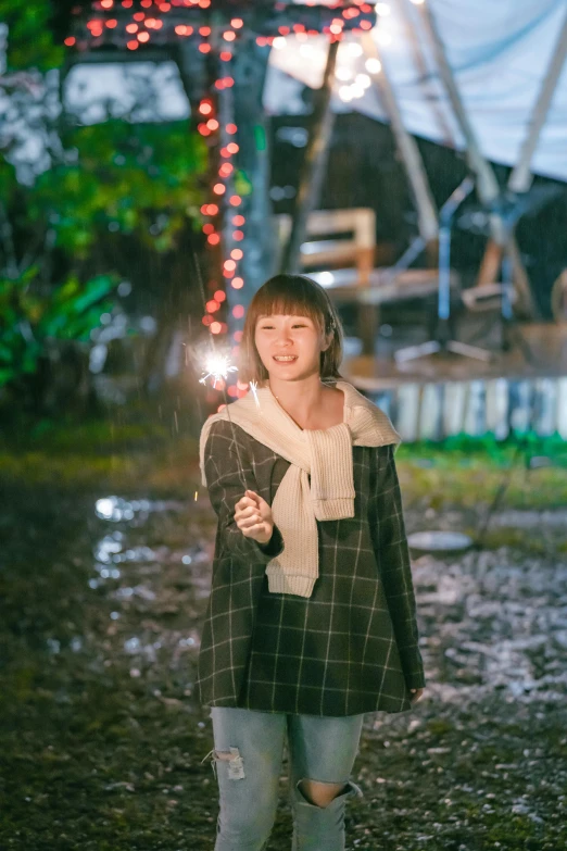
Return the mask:
[[[2, 4], [13, 133], [0, 155], [0, 387], [36, 373], [61, 341], [89, 341], [114, 303], [113, 273], [94, 277], [112, 268], [114, 261], [101, 258], [126, 246], [172, 250], [203, 201], [206, 148], [187, 121], [70, 126], [68, 116], [58, 117], [56, 80], [48, 72], [62, 66], [65, 48], [53, 43], [54, 9], [49, 0]], [[26, 165], [29, 134], [43, 148]], [[16, 161], [28, 185], [17, 182]], [[128, 242], [106, 251], [109, 240], [124, 236]]]

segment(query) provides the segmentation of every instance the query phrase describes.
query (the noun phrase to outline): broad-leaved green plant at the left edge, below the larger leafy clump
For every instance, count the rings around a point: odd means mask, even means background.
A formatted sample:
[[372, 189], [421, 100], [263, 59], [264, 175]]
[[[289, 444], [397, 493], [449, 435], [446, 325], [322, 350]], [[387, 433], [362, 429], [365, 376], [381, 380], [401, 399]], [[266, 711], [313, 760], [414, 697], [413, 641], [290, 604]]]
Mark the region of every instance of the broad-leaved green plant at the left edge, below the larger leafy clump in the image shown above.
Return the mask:
[[88, 341], [101, 314], [113, 306], [118, 280], [111, 275], [86, 284], [70, 277], [46, 297], [37, 272], [32, 266], [15, 280], [0, 278], [0, 387], [35, 373], [56, 341]]

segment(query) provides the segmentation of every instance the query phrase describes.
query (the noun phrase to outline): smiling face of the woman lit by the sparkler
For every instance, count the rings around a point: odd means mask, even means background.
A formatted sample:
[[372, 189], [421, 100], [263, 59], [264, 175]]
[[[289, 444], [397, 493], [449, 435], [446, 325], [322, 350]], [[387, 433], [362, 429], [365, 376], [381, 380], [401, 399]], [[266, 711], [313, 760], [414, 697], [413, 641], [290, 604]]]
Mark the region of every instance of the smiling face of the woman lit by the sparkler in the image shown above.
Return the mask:
[[298, 380], [318, 375], [320, 352], [331, 339], [325, 339], [308, 316], [276, 314], [257, 320], [254, 341], [270, 377]]

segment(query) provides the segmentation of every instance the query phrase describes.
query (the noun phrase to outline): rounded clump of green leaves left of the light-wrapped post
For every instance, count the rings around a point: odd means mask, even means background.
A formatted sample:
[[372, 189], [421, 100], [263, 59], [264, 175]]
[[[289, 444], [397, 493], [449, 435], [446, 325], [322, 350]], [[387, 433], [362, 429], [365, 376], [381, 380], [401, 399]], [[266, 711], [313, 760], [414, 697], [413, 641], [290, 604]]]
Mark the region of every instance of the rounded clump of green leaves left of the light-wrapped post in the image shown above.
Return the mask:
[[40, 175], [27, 214], [34, 223], [47, 217], [58, 247], [75, 256], [87, 256], [109, 229], [166, 251], [187, 217], [199, 214], [206, 154], [185, 122], [112, 120], [68, 130], [63, 141], [74, 161]]

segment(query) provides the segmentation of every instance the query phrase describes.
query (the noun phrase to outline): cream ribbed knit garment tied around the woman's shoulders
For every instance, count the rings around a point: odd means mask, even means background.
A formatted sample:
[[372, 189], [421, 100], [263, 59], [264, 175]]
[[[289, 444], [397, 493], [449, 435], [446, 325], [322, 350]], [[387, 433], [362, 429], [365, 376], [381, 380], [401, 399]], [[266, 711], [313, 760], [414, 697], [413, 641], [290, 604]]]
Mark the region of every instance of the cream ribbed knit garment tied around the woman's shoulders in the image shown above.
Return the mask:
[[[248, 392], [230, 403], [232, 423], [290, 462], [272, 504], [284, 538], [282, 552], [266, 565], [268, 589], [275, 593], [311, 597], [319, 575], [316, 521], [354, 517], [352, 446], [398, 448], [401, 441], [388, 416], [351, 384], [338, 380], [336, 387], [344, 393], [343, 422], [320, 430], [300, 428], [269, 385], [256, 390], [257, 402]], [[206, 438], [218, 420], [228, 420], [226, 408], [210, 416], [201, 430], [204, 486]]]

